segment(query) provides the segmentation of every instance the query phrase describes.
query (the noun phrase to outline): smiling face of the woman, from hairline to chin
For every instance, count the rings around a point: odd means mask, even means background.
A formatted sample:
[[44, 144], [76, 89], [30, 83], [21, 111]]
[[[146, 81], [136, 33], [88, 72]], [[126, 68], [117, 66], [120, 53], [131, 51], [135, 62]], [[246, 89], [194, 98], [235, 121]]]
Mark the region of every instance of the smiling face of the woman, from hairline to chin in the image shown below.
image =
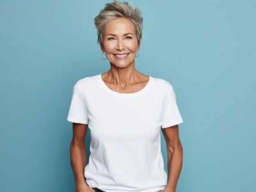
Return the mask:
[[140, 44], [136, 37], [134, 24], [125, 18], [110, 20], [103, 31], [102, 52], [106, 52], [108, 60], [116, 67], [127, 67], [134, 64], [136, 51]]

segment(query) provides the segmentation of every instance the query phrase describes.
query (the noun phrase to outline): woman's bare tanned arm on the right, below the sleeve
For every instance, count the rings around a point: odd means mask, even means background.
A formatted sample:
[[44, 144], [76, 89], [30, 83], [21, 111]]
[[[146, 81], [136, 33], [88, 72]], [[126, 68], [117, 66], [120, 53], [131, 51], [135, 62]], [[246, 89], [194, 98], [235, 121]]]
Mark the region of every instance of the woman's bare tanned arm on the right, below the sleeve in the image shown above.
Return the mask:
[[183, 148], [179, 140], [179, 126], [162, 129], [168, 154], [168, 183], [164, 191], [175, 192], [182, 169]]

